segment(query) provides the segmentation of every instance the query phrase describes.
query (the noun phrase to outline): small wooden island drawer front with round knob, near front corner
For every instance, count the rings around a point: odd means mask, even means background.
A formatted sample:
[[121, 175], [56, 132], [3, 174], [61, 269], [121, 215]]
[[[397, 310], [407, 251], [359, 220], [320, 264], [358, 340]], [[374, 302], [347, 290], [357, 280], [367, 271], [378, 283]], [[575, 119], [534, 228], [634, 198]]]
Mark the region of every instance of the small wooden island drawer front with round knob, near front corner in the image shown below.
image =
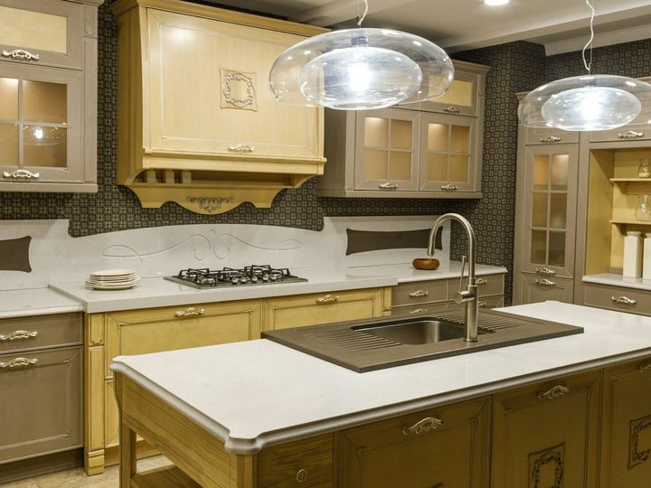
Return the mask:
[[258, 456], [258, 486], [330, 488], [332, 469], [332, 434], [269, 447]]

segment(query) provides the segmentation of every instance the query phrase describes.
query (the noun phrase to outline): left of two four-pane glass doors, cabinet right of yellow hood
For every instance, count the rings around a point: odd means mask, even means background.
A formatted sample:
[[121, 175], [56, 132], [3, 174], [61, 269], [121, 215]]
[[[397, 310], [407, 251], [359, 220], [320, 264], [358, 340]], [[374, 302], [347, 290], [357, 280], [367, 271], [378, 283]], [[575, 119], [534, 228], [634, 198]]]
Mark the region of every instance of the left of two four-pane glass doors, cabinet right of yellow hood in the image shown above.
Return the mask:
[[363, 110], [355, 120], [355, 190], [418, 188], [419, 113]]

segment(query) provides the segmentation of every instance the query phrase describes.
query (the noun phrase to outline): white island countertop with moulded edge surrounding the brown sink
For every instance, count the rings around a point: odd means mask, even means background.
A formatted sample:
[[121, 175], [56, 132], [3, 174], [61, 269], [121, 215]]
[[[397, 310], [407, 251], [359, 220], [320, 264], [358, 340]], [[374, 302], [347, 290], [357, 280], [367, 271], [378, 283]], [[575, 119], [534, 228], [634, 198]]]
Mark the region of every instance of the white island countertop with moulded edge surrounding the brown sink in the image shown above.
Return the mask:
[[361, 422], [651, 355], [651, 317], [545, 302], [505, 312], [585, 333], [357, 373], [257, 340], [120, 356], [111, 369], [239, 454]]

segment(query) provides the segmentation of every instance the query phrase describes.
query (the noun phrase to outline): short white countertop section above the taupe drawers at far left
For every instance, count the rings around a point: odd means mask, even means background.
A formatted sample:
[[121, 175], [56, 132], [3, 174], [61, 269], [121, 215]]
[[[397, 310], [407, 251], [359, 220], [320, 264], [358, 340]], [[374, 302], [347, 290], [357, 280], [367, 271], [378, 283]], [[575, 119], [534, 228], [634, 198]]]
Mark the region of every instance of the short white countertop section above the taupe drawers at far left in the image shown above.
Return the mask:
[[79, 301], [61, 295], [52, 288], [26, 288], [0, 292], [0, 319], [66, 314], [82, 310]]

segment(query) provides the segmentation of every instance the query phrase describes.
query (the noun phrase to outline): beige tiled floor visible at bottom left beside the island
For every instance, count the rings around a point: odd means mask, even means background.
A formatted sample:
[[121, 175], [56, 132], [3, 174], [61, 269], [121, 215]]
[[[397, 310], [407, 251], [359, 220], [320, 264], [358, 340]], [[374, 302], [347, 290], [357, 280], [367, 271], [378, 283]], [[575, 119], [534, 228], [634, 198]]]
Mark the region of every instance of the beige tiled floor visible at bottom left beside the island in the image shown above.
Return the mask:
[[[169, 465], [170, 462], [162, 455], [141, 459], [137, 463], [138, 471], [147, 471], [156, 467]], [[83, 468], [62, 471], [61, 473], [45, 474], [15, 483], [2, 484], [2, 488], [118, 488], [118, 466], [106, 468], [103, 474], [87, 476]]]

